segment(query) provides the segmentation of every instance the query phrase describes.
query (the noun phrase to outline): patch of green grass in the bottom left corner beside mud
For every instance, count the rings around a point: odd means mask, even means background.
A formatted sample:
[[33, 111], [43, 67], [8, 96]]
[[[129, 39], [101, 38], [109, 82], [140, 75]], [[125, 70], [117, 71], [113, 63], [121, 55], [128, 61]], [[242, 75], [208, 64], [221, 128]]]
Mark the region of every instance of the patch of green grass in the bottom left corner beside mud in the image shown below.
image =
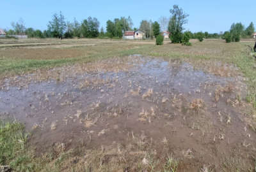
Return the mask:
[[0, 120], [0, 164], [10, 165], [15, 171], [34, 171], [36, 163], [26, 152], [27, 140], [24, 125]]

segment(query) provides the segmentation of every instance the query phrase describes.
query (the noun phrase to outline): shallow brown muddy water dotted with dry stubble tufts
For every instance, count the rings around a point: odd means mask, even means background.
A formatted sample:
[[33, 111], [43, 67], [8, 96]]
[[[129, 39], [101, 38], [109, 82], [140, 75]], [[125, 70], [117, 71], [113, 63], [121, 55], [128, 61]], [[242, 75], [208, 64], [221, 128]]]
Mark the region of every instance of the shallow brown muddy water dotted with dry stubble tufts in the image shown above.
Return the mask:
[[[82, 73], [73, 68], [77, 75], [65, 73], [65, 80], [29, 80], [26, 87], [4, 80], [1, 117], [24, 122], [33, 133], [29, 143], [39, 151], [54, 143], [65, 148], [125, 145], [131, 135], [142, 134], [198, 169], [219, 166], [237, 151], [246, 157], [255, 149], [256, 135], [241, 113], [246, 87], [239, 78], [140, 55], [122, 63], [116, 59], [116, 66], [129, 68]], [[92, 64], [87, 65], [83, 68]]]

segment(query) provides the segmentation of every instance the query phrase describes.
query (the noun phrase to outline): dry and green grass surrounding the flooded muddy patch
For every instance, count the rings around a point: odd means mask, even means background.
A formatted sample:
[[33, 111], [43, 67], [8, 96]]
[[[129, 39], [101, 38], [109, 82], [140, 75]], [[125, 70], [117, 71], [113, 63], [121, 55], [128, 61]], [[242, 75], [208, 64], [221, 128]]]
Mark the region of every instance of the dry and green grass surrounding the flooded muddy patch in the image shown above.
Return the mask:
[[[225, 43], [221, 39], [205, 39], [203, 42], [191, 40], [191, 42], [191, 47], [185, 47], [171, 44], [169, 41], [164, 41], [163, 46], [156, 46], [154, 41], [142, 40], [0, 39], [0, 81], [3, 82], [8, 78], [12, 80], [15, 76], [26, 76], [29, 73], [56, 67], [64, 66], [65, 68], [65, 66], [111, 58], [122, 59], [132, 54], [161, 57], [166, 61], [178, 59], [216, 76], [241, 76], [247, 86], [245, 100], [254, 106], [254, 109], [250, 110], [250, 119], [253, 120], [256, 117], [256, 64], [255, 57], [253, 57], [255, 54], [250, 49], [253, 46], [253, 40], [242, 40], [240, 43]], [[234, 70], [225, 68], [226, 64], [234, 66]], [[200, 103], [196, 103], [196, 107], [200, 108], [201, 106], [198, 105]], [[184, 111], [188, 110], [184, 108], [182, 113]], [[250, 126], [255, 129], [254, 125]], [[25, 126], [19, 122], [0, 120], [1, 165], [8, 164], [15, 171], [93, 171], [93, 169], [94, 171], [95, 169], [113, 171], [120, 169], [120, 171], [164, 172], [179, 171], [178, 166], [182, 169], [182, 166], [186, 165], [172, 154], [164, 154], [161, 157], [154, 154], [153, 146], [148, 146], [149, 143], [146, 144], [147, 146], [140, 145], [141, 138], [133, 136], [133, 133], [132, 141], [136, 143], [131, 141], [131, 145], [136, 145], [136, 151], [132, 155], [131, 152], [128, 154], [125, 151], [114, 155], [113, 148], [84, 150], [83, 147], [76, 147], [63, 151], [63, 145], [58, 145], [58, 150], [52, 150], [54, 153], [49, 151], [38, 155], [35, 145], [27, 144], [31, 138], [31, 134], [28, 133]], [[161, 142], [165, 144], [165, 140]], [[166, 149], [163, 148], [162, 151]], [[91, 158], [88, 159], [88, 156]], [[115, 161], [110, 160], [112, 156], [116, 156]], [[77, 161], [78, 158], [83, 159], [83, 157], [84, 161]], [[225, 163], [221, 166], [221, 171], [255, 171], [251, 167], [246, 169], [246, 165], [242, 164], [240, 159], [230, 158], [223, 162]], [[211, 167], [201, 166], [199, 170], [211, 171]]]

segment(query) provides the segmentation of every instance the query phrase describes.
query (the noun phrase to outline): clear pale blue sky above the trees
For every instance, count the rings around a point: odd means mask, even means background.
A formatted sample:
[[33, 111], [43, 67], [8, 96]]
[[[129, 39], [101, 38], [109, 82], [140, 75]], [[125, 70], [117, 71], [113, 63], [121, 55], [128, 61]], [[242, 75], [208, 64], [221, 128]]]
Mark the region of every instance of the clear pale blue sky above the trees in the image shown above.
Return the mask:
[[170, 17], [173, 4], [189, 14], [185, 27], [192, 32], [227, 31], [233, 22], [242, 22], [246, 27], [250, 22], [256, 24], [255, 0], [1, 0], [0, 27], [11, 29], [10, 23], [22, 18], [26, 27], [44, 30], [52, 15], [59, 11], [69, 21], [74, 17], [79, 21], [96, 17], [103, 27], [109, 19], [131, 16], [134, 27], [139, 27], [144, 19], [157, 21], [161, 16]]

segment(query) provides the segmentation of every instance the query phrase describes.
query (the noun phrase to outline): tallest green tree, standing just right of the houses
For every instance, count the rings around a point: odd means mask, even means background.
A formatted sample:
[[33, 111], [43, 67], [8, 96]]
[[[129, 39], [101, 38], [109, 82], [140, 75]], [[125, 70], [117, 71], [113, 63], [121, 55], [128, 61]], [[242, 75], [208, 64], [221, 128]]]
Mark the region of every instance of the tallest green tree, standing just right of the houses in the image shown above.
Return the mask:
[[182, 31], [184, 30], [184, 24], [188, 23], [189, 15], [186, 14], [182, 8], [179, 8], [178, 5], [173, 5], [173, 8], [170, 10], [171, 18], [168, 25], [168, 31], [171, 36], [170, 39], [172, 43], [180, 43], [182, 39]]

